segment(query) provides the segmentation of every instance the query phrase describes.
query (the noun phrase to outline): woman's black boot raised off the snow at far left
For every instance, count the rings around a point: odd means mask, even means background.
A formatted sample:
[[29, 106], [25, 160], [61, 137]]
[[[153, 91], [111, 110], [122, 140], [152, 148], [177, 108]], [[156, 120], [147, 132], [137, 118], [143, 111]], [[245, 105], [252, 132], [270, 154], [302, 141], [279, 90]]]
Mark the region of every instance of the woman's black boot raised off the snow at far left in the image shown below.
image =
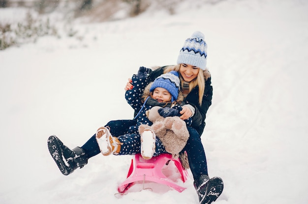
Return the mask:
[[71, 174], [78, 167], [84, 167], [88, 163], [88, 156], [83, 149], [76, 147], [70, 150], [55, 135], [48, 138], [48, 149], [61, 173], [65, 176]]

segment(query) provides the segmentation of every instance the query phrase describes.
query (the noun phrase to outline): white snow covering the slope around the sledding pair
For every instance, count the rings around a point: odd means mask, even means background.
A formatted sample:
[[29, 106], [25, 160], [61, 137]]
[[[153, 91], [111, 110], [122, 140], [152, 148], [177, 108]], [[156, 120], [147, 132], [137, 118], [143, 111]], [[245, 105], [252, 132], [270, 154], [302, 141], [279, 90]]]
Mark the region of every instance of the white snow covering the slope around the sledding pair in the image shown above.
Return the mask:
[[200, 30], [214, 87], [202, 141], [210, 177], [225, 184], [215, 204], [307, 204], [307, 1], [202, 2], [183, 1], [174, 15], [73, 22], [82, 39], [43, 37], [0, 51], [0, 203], [198, 203], [191, 172], [182, 193], [117, 198], [131, 156], [99, 154], [63, 176], [47, 138], [74, 148], [108, 121], [132, 119], [127, 78], [140, 66], [175, 64]]

